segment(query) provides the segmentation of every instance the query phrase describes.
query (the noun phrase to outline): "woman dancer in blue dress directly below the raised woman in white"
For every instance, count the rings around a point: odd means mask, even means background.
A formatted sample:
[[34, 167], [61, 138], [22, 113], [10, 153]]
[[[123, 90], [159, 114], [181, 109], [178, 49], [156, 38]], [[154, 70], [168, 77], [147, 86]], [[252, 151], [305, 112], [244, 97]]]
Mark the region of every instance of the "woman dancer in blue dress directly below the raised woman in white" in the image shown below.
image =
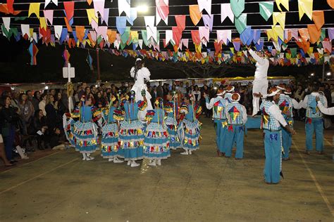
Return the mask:
[[124, 159], [128, 166], [140, 166], [136, 160], [143, 158], [144, 125], [138, 119], [138, 112], [147, 106], [145, 91], [142, 91], [144, 100], [135, 102], [135, 91], [130, 91], [127, 99], [122, 101], [125, 119], [120, 123], [120, 148], [124, 150]]

